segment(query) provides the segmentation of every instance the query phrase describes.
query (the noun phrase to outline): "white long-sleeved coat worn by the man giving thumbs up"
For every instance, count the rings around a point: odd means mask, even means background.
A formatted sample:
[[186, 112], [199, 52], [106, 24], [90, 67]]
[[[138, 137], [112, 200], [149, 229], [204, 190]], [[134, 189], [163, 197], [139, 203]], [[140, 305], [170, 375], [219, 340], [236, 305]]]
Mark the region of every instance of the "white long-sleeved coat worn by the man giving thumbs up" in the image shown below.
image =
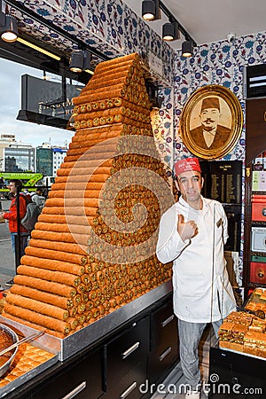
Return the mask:
[[[160, 220], [156, 254], [160, 262], [173, 261], [174, 311], [192, 323], [209, 323], [236, 308], [228, 278], [223, 245], [228, 239], [223, 206], [201, 197], [203, 207], [193, 209], [181, 197]], [[178, 214], [194, 220], [199, 233], [183, 241], [177, 231]]]

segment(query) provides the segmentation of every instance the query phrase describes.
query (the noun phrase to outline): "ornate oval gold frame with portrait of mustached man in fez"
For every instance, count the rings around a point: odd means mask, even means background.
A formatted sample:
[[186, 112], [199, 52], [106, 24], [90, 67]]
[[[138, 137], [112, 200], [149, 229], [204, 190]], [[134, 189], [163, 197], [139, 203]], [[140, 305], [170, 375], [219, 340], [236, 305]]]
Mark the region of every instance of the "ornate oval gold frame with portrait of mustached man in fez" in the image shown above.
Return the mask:
[[212, 84], [192, 93], [180, 117], [181, 137], [187, 149], [206, 160], [231, 152], [241, 136], [243, 112], [231, 90]]

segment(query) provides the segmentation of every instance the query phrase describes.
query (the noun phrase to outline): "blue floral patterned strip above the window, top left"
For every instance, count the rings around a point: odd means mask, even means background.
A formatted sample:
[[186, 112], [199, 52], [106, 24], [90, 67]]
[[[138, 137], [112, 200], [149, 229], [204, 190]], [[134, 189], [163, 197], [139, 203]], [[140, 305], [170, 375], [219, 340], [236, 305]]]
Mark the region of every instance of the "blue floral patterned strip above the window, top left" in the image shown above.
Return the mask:
[[[32, 12], [49, 20], [55, 27], [95, 47], [106, 56], [119, 57], [137, 52], [148, 59], [149, 51], [163, 59], [163, 77], [171, 82], [174, 51], [162, 42], [144, 20], [122, 0], [18, 0]], [[15, 11], [13, 11], [15, 12]], [[19, 12], [16, 12], [19, 14]], [[20, 28], [42, 41], [53, 40], [52, 29], [40, 27], [30, 18], [21, 17]], [[62, 40], [57, 38], [58, 41]], [[65, 42], [66, 44], [66, 42]], [[57, 44], [55, 43], [57, 46]], [[58, 43], [59, 45], [59, 43]], [[73, 44], [67, 43], [69, 52]]]

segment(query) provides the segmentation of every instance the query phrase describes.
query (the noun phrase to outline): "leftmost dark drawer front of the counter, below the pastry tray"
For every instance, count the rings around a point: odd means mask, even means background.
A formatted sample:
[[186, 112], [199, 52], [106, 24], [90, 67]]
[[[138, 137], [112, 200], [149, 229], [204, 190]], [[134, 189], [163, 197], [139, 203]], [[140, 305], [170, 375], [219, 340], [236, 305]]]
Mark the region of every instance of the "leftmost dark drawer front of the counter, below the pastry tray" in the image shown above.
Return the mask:
[[97, 399], [102, 393], [102, 351], [81, 357], [62, 368], [28, 395], [32, 399]]

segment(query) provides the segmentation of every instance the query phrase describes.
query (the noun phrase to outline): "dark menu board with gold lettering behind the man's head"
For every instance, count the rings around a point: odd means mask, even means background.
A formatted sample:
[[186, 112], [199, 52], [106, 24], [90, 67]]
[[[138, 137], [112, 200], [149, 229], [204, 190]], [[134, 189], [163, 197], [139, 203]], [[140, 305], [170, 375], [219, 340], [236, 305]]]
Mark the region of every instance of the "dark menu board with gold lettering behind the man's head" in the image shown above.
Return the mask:
[[200, 161], [200, 167], [204, 177], [204, 197], [223, 204], [241, 204], [241, 160], [204, 160]]

